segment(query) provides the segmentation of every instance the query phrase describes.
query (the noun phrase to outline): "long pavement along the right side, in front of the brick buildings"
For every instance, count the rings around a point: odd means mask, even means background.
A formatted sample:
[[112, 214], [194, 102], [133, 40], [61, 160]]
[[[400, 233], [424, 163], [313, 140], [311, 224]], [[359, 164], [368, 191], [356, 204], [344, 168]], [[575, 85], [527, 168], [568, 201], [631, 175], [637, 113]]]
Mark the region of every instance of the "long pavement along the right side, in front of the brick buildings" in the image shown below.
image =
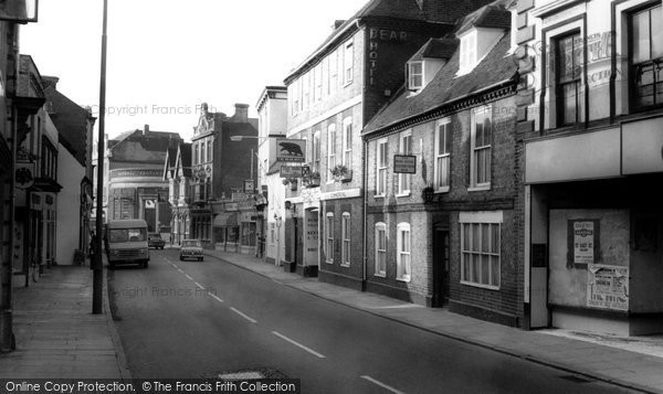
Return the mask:
[[252, 255], [206, 251], [239, 267], [302, 291], [429, 332], [648, 393], [663, 393], [663, 337], [618, 338], [565, 330], [524, 331], [445, 309], [325, 284], [286, 273]]

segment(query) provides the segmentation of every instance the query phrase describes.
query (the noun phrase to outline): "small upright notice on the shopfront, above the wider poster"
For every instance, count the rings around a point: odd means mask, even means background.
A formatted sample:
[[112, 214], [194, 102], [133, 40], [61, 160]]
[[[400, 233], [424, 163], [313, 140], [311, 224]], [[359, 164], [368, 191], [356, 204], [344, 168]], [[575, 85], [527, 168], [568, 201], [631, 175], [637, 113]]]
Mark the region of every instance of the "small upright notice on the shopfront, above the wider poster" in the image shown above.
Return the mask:
[[599, 262], [600, 221], [569, 221], [569, 267]]

